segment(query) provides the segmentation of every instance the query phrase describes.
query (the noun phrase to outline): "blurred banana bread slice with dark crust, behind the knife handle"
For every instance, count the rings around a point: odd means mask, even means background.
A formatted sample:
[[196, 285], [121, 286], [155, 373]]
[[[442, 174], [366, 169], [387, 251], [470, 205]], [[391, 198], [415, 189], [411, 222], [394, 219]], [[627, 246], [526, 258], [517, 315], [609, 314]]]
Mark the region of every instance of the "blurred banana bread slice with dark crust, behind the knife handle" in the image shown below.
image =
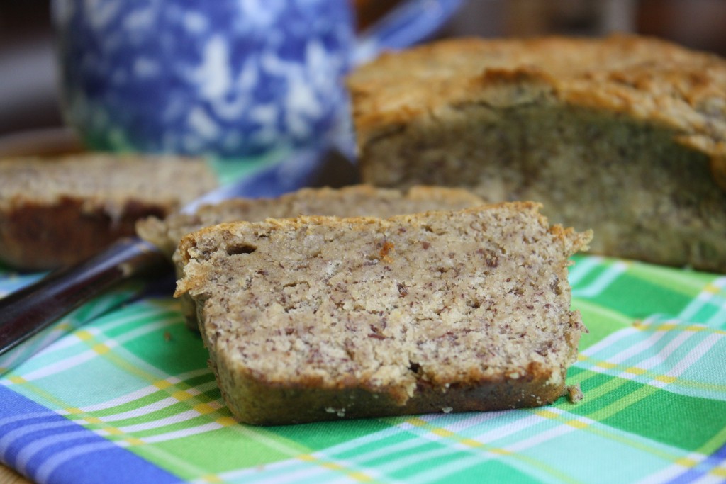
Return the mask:
[[213, 189], [202, 160], [79, 154], [0, 160], [0, 260], [46, 270], [89, 258]]

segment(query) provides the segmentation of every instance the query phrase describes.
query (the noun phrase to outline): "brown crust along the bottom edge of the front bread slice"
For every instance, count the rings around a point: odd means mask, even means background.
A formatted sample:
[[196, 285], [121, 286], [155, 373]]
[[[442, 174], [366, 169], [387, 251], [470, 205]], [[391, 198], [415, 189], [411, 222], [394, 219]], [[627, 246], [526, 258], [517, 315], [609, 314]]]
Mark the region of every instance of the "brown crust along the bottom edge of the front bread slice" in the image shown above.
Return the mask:
[[[219, 356], [216, 356], [219, 357]], [[222, 397], [234, 417], [253, 425], [288, 425], [326, 420], [497, 411], [548, 405], [563, 395], [565, 380], [535, 367], [516, 380], [510, 377], [431, 385], [419, 380], [412, 398], [396, 401], [386, 388], [351, 385], [325, 388], [301, 383], [267, 382], [211, 358]]]

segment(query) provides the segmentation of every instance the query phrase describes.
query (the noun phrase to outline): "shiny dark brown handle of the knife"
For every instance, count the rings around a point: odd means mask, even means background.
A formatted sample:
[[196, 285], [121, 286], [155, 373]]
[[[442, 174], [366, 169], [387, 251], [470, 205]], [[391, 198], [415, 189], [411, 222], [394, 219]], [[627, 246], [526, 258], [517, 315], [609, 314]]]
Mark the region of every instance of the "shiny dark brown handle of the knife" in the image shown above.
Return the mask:
[[0, 299], [0, 363], [12, 348], [116, 283], [155, 271], [171, 271], [168, 258], [150, 243], [127, 237], [78, 266], [54, 271]]

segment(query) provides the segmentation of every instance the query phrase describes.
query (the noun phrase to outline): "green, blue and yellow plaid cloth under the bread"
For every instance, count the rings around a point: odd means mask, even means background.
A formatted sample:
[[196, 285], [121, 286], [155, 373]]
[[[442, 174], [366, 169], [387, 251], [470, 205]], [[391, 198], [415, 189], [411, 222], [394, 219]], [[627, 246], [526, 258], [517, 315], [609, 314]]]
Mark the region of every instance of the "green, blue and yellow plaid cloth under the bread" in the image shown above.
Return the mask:
[[177, 301], [116, 293], [1, 378], [0, 460], [76, 484], [726, 480], [726, 276], [575, 261], [580, 403], [248, 427]]

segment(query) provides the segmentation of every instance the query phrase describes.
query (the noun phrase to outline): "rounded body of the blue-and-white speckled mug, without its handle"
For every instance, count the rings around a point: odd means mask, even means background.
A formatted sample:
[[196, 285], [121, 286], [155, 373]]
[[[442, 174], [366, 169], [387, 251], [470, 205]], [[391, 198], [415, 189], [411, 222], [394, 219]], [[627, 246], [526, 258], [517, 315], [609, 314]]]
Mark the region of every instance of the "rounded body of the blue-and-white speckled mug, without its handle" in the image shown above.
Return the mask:
[[244, 157], [344, 115], [343, 0], [54, 0], [62, 104], [94, 149]]

